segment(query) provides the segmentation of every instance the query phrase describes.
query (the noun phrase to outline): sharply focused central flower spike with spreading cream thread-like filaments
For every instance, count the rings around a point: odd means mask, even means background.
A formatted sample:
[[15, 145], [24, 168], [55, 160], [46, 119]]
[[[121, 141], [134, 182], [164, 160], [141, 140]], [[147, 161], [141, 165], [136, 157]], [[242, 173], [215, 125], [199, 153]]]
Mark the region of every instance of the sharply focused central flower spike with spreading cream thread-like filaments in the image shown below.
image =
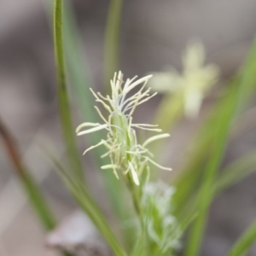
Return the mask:
[[[149, 95], [150, 88], [147, 90], [145, 86], [152, 75], [148, 75], [142, 79], [127, 79], [122, 87], [123, 74], [121, 72], [114, 74], [113, 80], [110, 81], [112, 96], [102, 96], [100, 92], [91, 92], [96, 97], [96, 102], [102, 103], [103, 108], [108, 110], [108, 118], [105, 118], [99, 108], [96, 108], [96, 112], [103, 120], [103, 124], [99, 123], [84, 123], [79, 125], [76, 132], [77, 135], [84, 135], [94, 131], [107, 130], [108, 137], [84, 151], [84, 154], [92, 148], [104, 145], [107, 148], [106, 154], [102, 157], [109, 157], [110, 163], [107, 166], [102, 166], [102, 169], [112, 169], [113, 173], [119, 178], [118, 172], [123, 172], [125, 177], [129, 177], [136, 185], [140, 184], [140, 177], [144, 170], [149, 172], [148, 163], [159, 167], [160, 169], [171, 171], [171, 168], [160, 166], [151, 158], [153, 155], [148, 151], [146, 146], [155, 140], [169, 137], [170, 135], [160, 134], [154, 137], [149, 137], [142, 145], [137, 143], [137, 135], [134, 128], [143, 129], [148, 131], [160, 132], [160, 129], [155, 128], [157, 125], [148, 124], [132, 124], [131, 114], [135, 108], [143, 102], [147, 102], [151, 97]], [[136, 80], [137, 79], [137, 80]], [[131, 93], [131, 90], [137, 87], [139, 84], [143, 84], [136, 93]], [[127, 94], [131, 93], [130, 96]], [[90, 129], [83, 130], [85, 127], [91, 127]]]

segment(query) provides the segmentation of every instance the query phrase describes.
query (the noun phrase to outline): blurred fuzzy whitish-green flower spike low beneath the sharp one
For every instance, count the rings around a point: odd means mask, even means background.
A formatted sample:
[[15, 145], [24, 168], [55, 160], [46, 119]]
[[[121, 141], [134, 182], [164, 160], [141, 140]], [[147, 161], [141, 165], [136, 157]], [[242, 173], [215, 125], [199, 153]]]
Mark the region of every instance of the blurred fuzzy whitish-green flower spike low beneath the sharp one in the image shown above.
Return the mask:
[[143, 223], [148, 240], [160, 248], [160, 255], [171, 255], [180, 247], [181, 227], [172, 215], [172, 195], [175, 189], [159, 181], [143, 187]]

